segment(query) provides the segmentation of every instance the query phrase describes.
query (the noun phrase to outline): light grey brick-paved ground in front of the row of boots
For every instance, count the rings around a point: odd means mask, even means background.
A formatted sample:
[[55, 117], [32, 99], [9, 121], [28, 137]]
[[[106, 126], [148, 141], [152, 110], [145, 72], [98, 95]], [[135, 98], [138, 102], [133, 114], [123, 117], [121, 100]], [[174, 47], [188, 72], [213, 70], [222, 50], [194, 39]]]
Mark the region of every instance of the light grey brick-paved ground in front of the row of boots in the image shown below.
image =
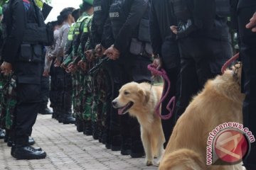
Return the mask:
[[0, 169], [157, 169], [156, 166], [145, 166], [144, 158], [132, 159], [105, 149], [92, 137], [78, 133], [75, 125], [63, 125], [50, 117], [38, 115], [32, 135], [35, 146], [46, 151], [46, 159], [17, 161], [11, 157], [4, 140], [0, 140]]

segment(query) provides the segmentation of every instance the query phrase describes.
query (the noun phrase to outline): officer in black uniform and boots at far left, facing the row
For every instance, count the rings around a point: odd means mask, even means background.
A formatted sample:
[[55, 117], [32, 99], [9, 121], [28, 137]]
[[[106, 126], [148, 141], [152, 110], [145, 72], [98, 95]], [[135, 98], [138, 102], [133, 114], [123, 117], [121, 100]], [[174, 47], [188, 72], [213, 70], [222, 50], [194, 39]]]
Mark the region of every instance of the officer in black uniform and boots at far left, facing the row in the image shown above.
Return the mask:
[[[9, 1], [4, 16], [7, 37], [4, 40], [2, 52], [4, 63], [1, 65], [1, 72], [4, 74], [14, 72], [17, 77], [14, 128], [16, 147], [12, 148], [14, 157], [16, 159], [43, 159], [46, 157], [46, 152], [28, 146], [28, 137], [31, 135], [40, 106], [41, 60], [43, 58], [43, 45], [41, 44], [44, 42], [43, 37], [36, 40], [30, 28], [45, 28], [43, 17], [33, 0]], [[36, 30], [41, 35], [46, 33], [43, 29]]]

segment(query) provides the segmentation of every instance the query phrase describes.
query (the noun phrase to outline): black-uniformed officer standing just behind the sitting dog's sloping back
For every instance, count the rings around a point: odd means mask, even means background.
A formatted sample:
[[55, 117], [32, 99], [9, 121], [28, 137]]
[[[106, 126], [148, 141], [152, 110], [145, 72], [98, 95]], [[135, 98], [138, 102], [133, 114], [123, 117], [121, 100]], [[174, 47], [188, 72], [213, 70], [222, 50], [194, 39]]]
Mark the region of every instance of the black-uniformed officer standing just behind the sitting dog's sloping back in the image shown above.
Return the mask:
[[226, 18], [230, 5], [228, 0], [171, 3], [178, 19], [178, 28], [171, 29], [177, 34], [181, 53], [181, 93], [176, 105], [180, 116], [191, 97], [208, 79], [220, 74], [224, 62], [232, 55]]

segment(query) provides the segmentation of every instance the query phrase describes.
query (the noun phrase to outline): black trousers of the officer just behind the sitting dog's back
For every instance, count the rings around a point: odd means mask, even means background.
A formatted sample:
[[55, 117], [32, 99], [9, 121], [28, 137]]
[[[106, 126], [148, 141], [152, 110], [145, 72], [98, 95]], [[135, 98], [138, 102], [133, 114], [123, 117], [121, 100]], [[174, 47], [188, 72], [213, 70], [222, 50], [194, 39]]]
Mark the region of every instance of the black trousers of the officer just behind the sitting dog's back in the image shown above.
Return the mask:
[[186, 110], [192, 96], [203, 89], [208, 79], [220, 74], [221, 67], [232, 55], [228, 40], [215, 40], [202, 35], [178, 40], [178, 45], [181, 54], [181, 91], [176, 105], [177, 119]]

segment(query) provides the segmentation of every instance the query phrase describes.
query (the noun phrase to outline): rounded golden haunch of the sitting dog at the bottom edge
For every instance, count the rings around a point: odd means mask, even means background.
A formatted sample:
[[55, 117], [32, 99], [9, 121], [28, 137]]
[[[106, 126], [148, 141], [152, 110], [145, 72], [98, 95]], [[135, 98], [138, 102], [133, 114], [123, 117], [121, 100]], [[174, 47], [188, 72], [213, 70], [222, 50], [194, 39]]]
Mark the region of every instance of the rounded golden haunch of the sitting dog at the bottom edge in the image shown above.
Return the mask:
[[203, 163], [198, 153], [191, 149], [178, 149], [175, 152], [164, 155], [159, 170], [204, 170], [206, 164]]

